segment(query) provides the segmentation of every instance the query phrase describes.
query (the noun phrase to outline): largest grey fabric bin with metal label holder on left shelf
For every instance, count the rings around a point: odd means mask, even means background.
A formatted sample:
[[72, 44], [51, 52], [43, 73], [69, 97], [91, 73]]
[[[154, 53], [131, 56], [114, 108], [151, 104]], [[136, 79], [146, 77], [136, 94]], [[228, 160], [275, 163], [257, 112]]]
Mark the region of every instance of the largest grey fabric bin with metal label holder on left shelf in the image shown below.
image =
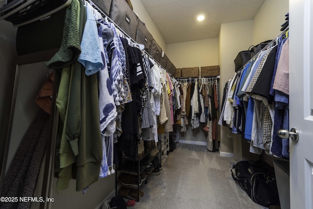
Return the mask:
[[135, 39], [139, 19], [125, 0], [112, 0], [109, 17]]

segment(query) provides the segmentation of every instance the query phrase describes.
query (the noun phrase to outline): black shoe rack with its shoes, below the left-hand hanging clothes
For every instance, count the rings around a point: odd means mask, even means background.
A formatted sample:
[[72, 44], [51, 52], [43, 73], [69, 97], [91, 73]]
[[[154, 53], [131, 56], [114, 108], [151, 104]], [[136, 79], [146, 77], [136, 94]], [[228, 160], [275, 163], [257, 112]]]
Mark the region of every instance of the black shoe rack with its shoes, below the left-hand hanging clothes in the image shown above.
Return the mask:
[[[121, 157], [115, 176], [115, 195], [139, 202], [144, 194], [141, 187], [148, 182], [150, 175], [160, 173], [161, 141], [147, 143], [144, 141], [144, 151], [138, 158]], [[150, 145], [151, 144], [151, 145]]]

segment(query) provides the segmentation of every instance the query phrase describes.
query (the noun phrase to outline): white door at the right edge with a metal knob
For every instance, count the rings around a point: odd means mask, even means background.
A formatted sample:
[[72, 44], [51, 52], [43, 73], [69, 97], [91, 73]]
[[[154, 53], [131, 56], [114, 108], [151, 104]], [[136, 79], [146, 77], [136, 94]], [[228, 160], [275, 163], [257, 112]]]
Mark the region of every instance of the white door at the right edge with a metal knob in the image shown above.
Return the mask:
[[291, 209], [313, 209], [313, 2], [290, 0]]

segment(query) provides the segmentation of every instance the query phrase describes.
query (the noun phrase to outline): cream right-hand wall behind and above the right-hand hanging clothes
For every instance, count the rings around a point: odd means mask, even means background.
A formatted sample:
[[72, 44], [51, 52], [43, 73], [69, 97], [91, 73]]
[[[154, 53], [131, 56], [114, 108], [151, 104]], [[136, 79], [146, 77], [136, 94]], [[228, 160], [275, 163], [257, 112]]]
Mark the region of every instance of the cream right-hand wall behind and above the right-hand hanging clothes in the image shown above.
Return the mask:
[[[220, 57], [219, 65], [221, 68], [220, 92], [224, 90], [225, 82], [235, 74], [234, 59], [238, 52], [247, 50], [252, 45], [253, 20], [236, 23], [225, 23], [221, 25], [219, 36]], [[220, 104], [221, 105], [221, 104]], [[221, 152], [233, 153], [231, 132], [227, 127], [221, 126]]]

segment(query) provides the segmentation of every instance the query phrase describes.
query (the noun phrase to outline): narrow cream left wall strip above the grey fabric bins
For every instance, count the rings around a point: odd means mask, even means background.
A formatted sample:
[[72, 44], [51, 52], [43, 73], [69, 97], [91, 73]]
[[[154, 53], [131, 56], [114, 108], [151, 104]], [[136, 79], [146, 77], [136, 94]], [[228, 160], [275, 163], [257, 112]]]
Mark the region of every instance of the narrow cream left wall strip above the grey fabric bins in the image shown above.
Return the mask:
[[160, 34], [156, 27], [156, 24], [151, 19], [142, 2], [140, 0], [132, 0], [132, 5], [134, 8], [134, 12], [138, 15], [139, 19], [146, 24], [148, 31], [156, 40], [156, 43], [163, 49], [165, 54], [167, 54], [166, 42], [164, 41], [162, 35]]

